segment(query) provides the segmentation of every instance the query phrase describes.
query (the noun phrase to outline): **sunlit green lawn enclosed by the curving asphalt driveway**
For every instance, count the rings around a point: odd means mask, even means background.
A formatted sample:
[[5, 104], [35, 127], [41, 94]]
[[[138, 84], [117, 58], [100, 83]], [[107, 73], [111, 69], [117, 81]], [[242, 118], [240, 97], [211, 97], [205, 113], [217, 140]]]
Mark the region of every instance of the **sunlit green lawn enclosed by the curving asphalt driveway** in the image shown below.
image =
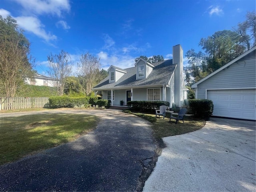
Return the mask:
[[96, 128], [97, 121], [82, 114], [6, 117], [0, 124], [0, 165], [73, 141]]

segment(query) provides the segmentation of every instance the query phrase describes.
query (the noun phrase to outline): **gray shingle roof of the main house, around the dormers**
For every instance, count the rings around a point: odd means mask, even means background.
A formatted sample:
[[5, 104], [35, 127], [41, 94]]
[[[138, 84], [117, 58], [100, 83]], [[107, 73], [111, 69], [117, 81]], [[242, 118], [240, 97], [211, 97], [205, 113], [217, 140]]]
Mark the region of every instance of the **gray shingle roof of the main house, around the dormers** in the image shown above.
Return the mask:
[[[122, 89], [126, 87], [138, 86], [154, 86], [154, 85], [167, 85], [170, 81], [172, 73], [176, 64], [172, 64], [171, 60], [153, 63], [156, 66], [152, 72], [145, 79], [136, 80], [136, 67], [127, 68], [124, 74], [117, 82], [109, 83], [109, 76], [96, 85], [93, 90], [106, 90], [106, 89]], [[122, 70], [122, 69], [121, 69]]]

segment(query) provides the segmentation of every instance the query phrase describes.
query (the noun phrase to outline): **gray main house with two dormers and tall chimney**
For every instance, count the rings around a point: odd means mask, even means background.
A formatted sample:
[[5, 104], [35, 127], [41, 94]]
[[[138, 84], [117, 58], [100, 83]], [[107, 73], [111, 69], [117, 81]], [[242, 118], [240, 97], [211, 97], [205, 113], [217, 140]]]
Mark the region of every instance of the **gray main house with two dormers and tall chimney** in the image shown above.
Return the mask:
[[112, 106], [124, 105], [131, 100], [161, 100], [182, 106], [187, 98], [183, 77], [183, 50], [180, 45], [173, 47], [173, 59], [148, 63], [140, 58], [135, 67], [121, 69], [110, 66], [109, 76], [92, 90], [101, 91], [102, 98], [111, 100]]

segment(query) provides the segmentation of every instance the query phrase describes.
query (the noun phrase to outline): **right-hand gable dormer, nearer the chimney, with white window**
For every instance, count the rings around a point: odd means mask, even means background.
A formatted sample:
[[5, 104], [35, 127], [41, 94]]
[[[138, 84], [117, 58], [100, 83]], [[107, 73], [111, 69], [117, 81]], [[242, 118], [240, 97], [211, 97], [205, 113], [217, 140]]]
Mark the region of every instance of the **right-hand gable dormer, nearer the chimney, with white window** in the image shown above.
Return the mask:
[[155, 68], [154, 65], [142, 58], [139, 58], [134, 65], [136, 66], [136, 80], [147, 78], [153, 68]]

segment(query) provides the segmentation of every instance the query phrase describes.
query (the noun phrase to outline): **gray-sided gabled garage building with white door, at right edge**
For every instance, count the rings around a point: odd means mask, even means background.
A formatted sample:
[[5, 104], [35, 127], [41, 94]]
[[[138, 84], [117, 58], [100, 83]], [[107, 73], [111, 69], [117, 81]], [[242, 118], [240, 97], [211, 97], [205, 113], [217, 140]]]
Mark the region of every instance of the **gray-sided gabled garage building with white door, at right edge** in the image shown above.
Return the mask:
[[255, 48], [192, 85], [196, 98], [213, 101], [213, 116], [256, 119]]

